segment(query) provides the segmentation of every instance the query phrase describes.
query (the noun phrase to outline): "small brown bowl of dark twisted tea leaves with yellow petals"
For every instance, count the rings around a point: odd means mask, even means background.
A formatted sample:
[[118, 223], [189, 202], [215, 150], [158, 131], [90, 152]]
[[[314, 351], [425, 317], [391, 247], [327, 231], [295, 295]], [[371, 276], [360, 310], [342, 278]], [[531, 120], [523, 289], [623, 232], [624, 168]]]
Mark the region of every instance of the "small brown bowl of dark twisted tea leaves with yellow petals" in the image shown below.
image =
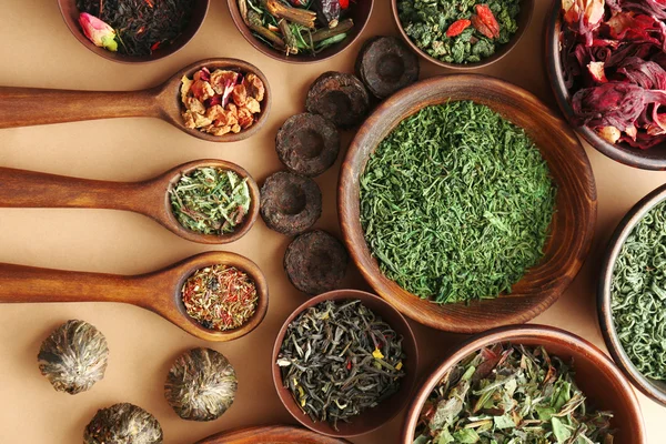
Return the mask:
[[299, 306], [273, 347], [280, 400], [304, 426], [329, 436], [370, 433], [408, 401], [418, 365], [405, 319], [381, 297], [337, 290]]

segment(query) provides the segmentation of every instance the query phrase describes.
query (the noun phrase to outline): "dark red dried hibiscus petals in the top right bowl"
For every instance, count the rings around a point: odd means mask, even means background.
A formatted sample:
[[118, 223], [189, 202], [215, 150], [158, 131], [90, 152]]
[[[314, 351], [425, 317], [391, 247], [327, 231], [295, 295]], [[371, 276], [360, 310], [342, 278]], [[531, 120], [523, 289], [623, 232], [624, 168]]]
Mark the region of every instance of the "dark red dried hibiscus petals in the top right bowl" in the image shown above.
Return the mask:
[[561, 62], [575, 120], [609, 143], [666, 142], [666, 3], [567, 0]]

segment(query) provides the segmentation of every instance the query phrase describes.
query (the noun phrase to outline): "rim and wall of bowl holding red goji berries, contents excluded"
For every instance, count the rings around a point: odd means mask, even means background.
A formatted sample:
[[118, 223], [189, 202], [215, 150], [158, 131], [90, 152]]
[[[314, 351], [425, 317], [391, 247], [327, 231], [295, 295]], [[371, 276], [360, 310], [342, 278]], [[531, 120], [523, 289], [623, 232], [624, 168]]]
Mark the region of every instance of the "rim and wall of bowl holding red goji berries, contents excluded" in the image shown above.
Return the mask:
[[410, 46], [410, 48], [412, 48], [412, 50], [414, 52], [416, 52], [418, 56], [421, 56], [422, 58], [424, 58], [425, 60], [427, 60], [431, 63], [434, 63], [442, 68], [446, 68], [450, 70], [457, 70], [457, 71], [472, 71], [472, 70], [485, 68], [490, 64], [495, 63], [497, 60], [504, 58], [504, 56], [508, 54], [508, 52], [512, 49], [514, 49], [516, 43], [523, 38], [525, 30], [529, 26], [529, 22], [532, 21], [532, 14], [534, 13], [534, 4], [535, 4], [535, 0], [522, 0], [521, 12], [517, 18], [518, 30], [512, 37], [512, 39], [506, 44], [502, 46], [497, 50], [497, 52], [495, 52], [493, 56], [491, 56], [487, 59], [484, 59], [480, 62], [476, 62], [476, 63], [450, 63], [450, 62], [444, 62], [442, 60], [435, 59], [434, 57], [430, 56], [427, 52], [425, 52], [421, 48], [418, 48], [416, 46], [416, 43], [414, 43], [412, 41], [412, 39], [410, 39], [410, 37], [406, 34], [405, 30], [403, 29], [402, 22], [400, 20], [400, 16], [397, 13], [397, 0], [391, 0], [391, 9], [393, 10], [393, 20], [395, 21], [395, 24], [397, 27], [397, 30], [400, 31], [400, 34], [402, 36], [403, 40]]

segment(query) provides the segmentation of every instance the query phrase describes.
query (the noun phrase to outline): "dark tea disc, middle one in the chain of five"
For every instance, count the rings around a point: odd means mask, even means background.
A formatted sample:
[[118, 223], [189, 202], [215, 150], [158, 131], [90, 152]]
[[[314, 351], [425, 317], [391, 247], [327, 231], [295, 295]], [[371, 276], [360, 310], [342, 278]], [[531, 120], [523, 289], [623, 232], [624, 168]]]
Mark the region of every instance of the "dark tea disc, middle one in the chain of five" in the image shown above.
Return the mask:
[[335, 163], [340, 134], [331, 121], [304, 112], [292, 115], [280, 128], [275, 150], [290, 171], [312, 178]]

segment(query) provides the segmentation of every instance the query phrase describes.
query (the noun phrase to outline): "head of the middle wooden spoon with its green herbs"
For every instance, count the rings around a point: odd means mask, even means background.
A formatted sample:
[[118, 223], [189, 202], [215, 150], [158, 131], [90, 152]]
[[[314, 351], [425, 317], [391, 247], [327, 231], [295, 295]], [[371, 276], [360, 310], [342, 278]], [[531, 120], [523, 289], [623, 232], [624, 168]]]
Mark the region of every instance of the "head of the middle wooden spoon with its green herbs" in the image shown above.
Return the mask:
[[185, 165], [170, 183], [171, 216], [198, 242], [228, 243], [256, 221], [259, 186], [241, 167], [219, 160]]

